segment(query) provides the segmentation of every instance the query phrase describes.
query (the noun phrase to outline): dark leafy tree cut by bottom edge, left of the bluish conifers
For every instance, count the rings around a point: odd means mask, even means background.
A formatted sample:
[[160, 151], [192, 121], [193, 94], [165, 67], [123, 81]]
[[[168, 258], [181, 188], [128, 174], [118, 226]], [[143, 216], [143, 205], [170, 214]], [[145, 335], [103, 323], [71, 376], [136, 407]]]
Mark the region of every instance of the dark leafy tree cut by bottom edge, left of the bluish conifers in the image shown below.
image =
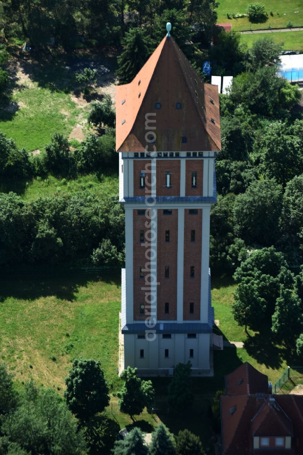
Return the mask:
[[119, 434], [119, 424], [106, 415], [92, 417], [85, 428], [90, 454], [109, 454]]

